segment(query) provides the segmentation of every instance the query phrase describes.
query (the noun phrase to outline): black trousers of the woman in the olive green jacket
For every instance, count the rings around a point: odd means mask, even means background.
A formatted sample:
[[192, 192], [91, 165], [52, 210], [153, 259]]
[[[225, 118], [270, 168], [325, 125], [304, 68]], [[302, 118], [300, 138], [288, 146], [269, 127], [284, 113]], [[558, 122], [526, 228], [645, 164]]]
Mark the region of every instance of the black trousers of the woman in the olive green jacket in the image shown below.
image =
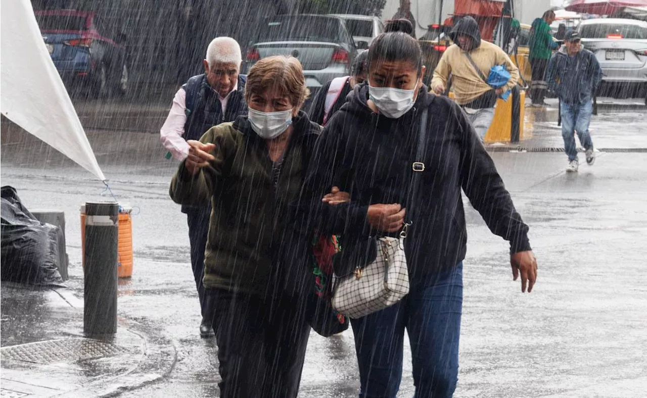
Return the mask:
[[206, 289], [214, 308], [220, 396], [296, 397], [310, 326], [299, 300]]

